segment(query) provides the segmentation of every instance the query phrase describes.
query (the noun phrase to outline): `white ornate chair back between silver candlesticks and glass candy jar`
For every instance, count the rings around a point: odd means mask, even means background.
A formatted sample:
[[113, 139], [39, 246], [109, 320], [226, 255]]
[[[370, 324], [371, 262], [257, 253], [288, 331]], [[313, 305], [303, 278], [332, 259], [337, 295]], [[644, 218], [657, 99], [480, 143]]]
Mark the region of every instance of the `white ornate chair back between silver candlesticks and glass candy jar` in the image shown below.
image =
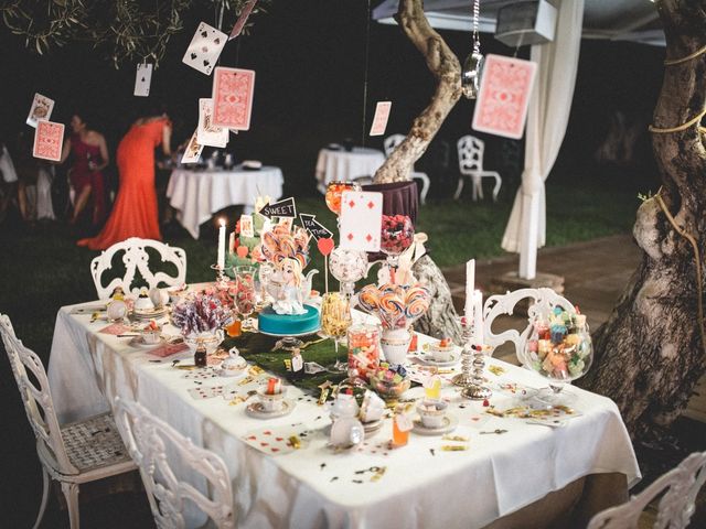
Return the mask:
[[[515, 306], [523, 300], [534, 300], [527, 310], [527, 326], [520, 332], [510, 328], [495, 334], [493, 332], [493, 322], [502, 314], [513, 314]], [[491, 295], [483, 304], [483, 336], [485, 343], [493, 347], [493, 350], [504, 344], [512, 342], [515, 345], [517, 359], [524, 365], [524, 347], [530, 334], [532, 333], [532, 322], [535, 316], [548, 314], [555, 306], [560, 306], [569, 314], [575, 314], [576, 310], [570, 301], [560, 296], [554, 290], [547, 288], [541, 289], [520, 289], [506, 294]]]

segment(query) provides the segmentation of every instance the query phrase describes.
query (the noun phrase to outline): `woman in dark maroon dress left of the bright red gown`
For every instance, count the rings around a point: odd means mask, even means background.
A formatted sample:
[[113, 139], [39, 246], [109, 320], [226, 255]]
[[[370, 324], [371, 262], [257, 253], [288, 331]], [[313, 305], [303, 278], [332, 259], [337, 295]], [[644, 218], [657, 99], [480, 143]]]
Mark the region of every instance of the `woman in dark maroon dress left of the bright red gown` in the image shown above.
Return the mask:
[[60, 163], [64, 163], [69, 153], [73, 158], [68, 179], [76, 196], [68, 222], [75, 224], [86, 206], [89, 206], [92, 224], [97, 227], [106, 216], [105, 184], [101, 173], [110, 162], [106, 139], [100, 132], [88, 130], [88, 125], [78, 114], [71, 118], [71, 128], [73, 134], [64, 142], [60, 160]]

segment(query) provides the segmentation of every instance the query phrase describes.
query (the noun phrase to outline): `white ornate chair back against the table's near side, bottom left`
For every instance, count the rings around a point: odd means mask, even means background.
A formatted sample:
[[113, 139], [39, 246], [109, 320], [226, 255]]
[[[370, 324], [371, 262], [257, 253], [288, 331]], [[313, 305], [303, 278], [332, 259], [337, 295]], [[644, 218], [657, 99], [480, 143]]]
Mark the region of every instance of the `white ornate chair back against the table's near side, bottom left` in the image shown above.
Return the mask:
[[[118, 429], [130, 455], [140, 467], [157, 527], [183, 528], [184, 507], [189, 500], [206, 514], [215, 527], [234, 528], [233, 492], [223, 460], [208, 450], [195, 446], [190, 439], [152, 415], [143, 406], [119, 397], [115, 399], [115, 404]], [[180, 481], [170, 465], [168, 451], [181, 464], [206, 479], [211, 497]]]

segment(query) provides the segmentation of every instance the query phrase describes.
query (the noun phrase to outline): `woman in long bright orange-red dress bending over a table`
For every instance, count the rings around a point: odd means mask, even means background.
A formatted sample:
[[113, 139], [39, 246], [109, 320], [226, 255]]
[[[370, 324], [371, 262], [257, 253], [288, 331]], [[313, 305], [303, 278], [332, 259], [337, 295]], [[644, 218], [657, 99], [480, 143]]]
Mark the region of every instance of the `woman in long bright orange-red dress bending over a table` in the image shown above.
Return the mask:
[[170, 155], [171, 123], [167, 115], [140, 118], [120, 141], [117, 152], [120, 187], [113, 212], [96, 237], [78, 246], [105, 250], [129, 237], [161, 240], [154, 191], [154, 149]]

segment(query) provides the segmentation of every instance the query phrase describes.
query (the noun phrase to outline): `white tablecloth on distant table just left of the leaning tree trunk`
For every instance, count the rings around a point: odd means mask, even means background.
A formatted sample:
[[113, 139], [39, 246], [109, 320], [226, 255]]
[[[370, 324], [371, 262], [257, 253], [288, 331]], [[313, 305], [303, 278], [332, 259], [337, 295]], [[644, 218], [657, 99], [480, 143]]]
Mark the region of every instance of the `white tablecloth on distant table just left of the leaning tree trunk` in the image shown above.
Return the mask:
[[354, 147], [351, 152], [321, 149], [317, 160], [317, 181], [322, 193], [327, 184], [336, 180], [353, 180], [359, 176], [373, 176], [385, 163], [385, 154], [376, 149]]

